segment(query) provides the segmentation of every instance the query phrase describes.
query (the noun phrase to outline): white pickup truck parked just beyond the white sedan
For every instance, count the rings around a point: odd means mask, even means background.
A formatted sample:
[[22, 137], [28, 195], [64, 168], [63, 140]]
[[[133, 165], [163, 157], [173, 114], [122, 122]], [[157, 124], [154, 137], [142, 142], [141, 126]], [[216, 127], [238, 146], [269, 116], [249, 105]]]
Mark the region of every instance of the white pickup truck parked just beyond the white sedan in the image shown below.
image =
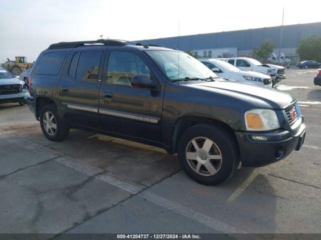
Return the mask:
[[245, 71], [257, 71], [273, 77], [276, 79], [285, 78], [285, 69], [283, 66], [273, 65], [273, 64], [262, 64], [258, 60], [250, 57], [231, 57], [231, 58], [217, 58], [228, 63], [231, 63], [238, 68]]

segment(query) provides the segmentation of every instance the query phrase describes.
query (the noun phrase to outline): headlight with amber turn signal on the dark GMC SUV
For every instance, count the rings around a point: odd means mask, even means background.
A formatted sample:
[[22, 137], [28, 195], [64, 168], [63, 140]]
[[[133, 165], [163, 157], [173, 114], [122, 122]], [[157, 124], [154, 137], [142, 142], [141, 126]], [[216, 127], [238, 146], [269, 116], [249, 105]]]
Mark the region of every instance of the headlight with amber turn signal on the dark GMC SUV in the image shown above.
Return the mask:
[[268, 131], [280, 127], [274, 110], [255, 108], [245, 112], [246, 128], [250, 131]]

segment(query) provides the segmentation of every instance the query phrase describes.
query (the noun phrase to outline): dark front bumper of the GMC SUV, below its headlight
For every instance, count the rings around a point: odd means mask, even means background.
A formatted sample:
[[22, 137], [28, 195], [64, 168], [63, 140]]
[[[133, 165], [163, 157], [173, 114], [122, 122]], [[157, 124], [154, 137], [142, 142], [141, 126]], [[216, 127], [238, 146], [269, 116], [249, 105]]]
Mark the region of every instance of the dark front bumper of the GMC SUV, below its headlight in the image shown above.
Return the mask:
[[[304, 118], [293, 134], [287, 130], [269, 133], [235, 132], [243, 166], [263, 166], [279, 161], [293, 150], [299, 150], [305, 137]], [[268, 140], [252, 140], [251, 135], [266, 136]]]

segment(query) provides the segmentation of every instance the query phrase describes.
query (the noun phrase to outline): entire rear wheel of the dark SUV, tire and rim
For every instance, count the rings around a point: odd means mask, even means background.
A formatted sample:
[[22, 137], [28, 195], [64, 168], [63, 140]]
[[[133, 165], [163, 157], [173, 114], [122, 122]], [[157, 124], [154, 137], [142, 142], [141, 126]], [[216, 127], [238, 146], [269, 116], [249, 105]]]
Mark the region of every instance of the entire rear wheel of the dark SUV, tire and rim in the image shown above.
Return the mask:
[[44, 135], [51, 141], [61, 141], [68, 136], [69, 128], [63, 126], [57, 108], [53, 104], [41, 108], [40, 125]]

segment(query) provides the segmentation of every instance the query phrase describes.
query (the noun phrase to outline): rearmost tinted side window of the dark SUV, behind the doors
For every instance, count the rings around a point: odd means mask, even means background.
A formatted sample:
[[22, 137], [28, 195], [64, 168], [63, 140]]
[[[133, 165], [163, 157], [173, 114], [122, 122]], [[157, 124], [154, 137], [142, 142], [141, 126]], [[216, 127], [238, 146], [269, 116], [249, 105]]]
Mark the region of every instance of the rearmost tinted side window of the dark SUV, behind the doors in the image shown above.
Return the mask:
[[35, 73], [58, 75], [65, 57], [65, 51], [47, 52], [43, 54], [36, 66]]

